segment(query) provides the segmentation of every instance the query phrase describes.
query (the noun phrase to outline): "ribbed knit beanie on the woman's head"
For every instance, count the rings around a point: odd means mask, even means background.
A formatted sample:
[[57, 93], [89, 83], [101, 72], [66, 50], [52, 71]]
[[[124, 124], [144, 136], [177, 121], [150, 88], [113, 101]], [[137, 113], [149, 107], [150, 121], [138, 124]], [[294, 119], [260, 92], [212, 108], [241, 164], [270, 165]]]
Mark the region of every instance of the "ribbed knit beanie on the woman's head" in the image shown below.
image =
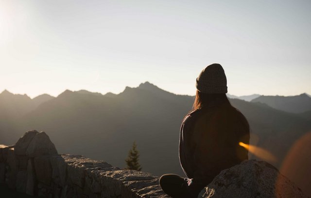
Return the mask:
[[196, 78], [196, 88], [199, 92], [207, 94], [227, 93], [227, 79], [223, 67], [214, 63], [203, 69]]

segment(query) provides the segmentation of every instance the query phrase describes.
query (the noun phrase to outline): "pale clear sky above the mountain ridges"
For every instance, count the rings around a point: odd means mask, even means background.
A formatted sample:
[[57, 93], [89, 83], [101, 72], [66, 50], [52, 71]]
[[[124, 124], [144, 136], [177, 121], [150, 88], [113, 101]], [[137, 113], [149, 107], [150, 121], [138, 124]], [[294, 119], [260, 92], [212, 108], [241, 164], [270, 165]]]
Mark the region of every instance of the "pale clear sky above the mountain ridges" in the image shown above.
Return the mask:
[[311, 94], [310, 0], [1, 0], [0, 92], [195, 94], [220, 63], [233, 95]]

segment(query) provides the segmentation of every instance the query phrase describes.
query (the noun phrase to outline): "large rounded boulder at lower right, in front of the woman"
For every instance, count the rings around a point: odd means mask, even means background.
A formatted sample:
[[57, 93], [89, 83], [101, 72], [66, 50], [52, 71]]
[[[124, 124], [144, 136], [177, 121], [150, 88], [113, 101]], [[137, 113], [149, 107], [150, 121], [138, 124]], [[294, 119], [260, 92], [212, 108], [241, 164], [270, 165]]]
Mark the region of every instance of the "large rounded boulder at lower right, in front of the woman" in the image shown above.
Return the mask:
[[307, 198], [273, 165], [248, 160], [223, 170], [198, 198]]

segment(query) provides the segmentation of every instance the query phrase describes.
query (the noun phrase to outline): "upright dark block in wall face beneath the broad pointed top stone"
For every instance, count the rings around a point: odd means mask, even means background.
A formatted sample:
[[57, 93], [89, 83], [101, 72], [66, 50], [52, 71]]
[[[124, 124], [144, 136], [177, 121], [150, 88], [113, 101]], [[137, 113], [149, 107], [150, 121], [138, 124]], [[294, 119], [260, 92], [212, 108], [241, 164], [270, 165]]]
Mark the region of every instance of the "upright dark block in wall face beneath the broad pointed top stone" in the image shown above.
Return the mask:
[[52, 166], [50, 162], [51, 156], [42, 155], [34, 158], [36, 179], [46, 185], [51, 185]]

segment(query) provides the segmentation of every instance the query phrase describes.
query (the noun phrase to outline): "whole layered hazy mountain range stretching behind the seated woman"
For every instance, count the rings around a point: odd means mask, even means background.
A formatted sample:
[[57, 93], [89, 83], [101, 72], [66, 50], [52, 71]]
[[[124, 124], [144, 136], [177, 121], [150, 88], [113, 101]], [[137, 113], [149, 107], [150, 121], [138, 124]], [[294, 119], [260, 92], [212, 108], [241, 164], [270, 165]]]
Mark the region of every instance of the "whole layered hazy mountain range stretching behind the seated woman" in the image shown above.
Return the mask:
[[[278, 168], [294, 142], [311, 131], [306, 96], [280, 98], [290, 101], [295, 111], [285, 108], [289, 104], [270, 106], [270, 99], [280, 101], [278, 96], [259, 96], [250, 102], [230, 99], [249, 121], [251, 144], [275, 155], [276, 161], [270, 163]], [[136, 141], [143, 171], [183, 175], [179, 130], [193, 101], [194, 96], [176, 95], [149, 82], [126, 87], [120, 94], [66, 90], [57, 97], [34, 99], [5, 90], [0, 94], [0, 144], [14, 144], [24, 132], [35, 129], [47, 132], [59, 153], [82, 154], [124, 167]], [[250, 154], [250, 158], [257, 157]]]

